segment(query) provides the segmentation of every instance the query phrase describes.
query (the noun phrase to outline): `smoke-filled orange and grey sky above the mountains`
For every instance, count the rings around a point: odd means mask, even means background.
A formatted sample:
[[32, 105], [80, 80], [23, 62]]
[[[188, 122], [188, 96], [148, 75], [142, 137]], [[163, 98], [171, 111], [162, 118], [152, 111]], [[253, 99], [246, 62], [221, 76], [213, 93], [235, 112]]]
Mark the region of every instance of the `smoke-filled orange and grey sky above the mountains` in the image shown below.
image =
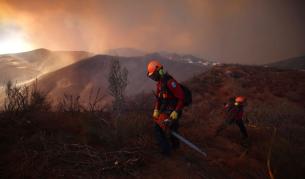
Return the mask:
[[304, 0], [0, 2], [0, 48], [131, 47], [247, 64], [305, 55]]

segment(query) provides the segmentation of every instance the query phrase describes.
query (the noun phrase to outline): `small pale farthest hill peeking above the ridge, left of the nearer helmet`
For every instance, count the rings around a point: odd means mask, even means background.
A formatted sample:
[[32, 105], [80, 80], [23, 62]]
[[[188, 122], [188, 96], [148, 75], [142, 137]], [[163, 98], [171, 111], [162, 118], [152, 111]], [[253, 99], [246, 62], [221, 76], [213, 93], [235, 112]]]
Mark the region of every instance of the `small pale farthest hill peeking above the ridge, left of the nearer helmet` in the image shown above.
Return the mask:
[[134, 48], [115, 48], [107, 50], [105, 54], [120, 57], [138, 57], [144, 56], [146, 52]]

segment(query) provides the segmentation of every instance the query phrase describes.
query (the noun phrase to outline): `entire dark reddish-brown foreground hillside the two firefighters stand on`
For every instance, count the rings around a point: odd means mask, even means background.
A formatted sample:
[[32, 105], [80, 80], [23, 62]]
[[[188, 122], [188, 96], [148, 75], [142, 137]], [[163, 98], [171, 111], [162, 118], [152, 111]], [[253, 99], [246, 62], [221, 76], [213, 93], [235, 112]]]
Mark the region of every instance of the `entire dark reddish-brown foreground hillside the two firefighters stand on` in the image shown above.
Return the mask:
[[[170, 157], [158, 153], [152, 129], [151, 94], [128, 101], [126, 113], [28, 113], [18, 120], [0, 115], [0, 175], [4, 178], [303, 178], [305, 175], [305, 73], [223, 65], [187, 85], [193, 105], [180, 133], [204, 149], [185, 145]], [[236, 126], [215, 136], [223, 103], [248, 98], [250, 146]], [[113, 127], [116, 126], [116, 127]]]

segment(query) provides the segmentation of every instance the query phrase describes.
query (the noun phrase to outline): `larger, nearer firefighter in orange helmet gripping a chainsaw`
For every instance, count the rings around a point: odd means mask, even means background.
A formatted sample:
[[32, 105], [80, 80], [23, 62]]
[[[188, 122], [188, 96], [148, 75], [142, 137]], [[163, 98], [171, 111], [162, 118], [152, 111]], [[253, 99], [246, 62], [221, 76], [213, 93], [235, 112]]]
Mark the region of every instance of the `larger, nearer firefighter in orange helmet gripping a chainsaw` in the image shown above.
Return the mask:
[[181, 85], [164, 71], [163, 66], [157, 60], [148, 63], [147, 76], [157, 82], [153, 111], [156, 139], [162, 153], [169, 155], [173, 149], [180, 146], [179, 140], [166, 131], [178, 132], [179, 118], [184, 107], [184, 92]]

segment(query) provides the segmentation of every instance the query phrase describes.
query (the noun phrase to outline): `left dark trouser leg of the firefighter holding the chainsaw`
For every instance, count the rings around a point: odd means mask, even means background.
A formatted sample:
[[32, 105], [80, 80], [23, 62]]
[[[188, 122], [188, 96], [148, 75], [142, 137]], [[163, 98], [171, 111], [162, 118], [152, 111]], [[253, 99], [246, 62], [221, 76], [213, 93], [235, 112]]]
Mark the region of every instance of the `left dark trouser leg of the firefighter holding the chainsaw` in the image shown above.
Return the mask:
[[170, 145], [167, 140], [166, 134], [164, 133], [163, 129], [158, 125], [154, 124], [154, 131], [157, 142], [161, 148], [162, 154], [169, 155], [170, 154]]

